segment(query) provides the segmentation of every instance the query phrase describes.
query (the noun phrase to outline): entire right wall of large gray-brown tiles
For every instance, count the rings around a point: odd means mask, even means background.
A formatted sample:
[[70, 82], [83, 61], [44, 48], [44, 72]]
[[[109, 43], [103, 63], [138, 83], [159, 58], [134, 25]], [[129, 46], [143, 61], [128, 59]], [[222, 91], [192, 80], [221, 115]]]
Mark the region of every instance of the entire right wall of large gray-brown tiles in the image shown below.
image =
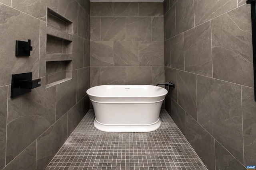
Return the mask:
[[246, 0], [164, 0], [166, 97], [209, 170], [256, 164], [252, 28]]

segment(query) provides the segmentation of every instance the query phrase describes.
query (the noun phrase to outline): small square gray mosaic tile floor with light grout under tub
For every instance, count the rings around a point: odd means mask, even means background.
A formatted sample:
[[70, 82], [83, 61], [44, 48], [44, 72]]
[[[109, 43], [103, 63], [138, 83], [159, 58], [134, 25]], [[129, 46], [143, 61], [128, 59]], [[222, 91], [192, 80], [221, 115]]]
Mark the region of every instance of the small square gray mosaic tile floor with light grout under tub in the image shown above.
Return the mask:
[[147, 133], [102, 132], [89, 110], [46, 170], [207, 170], [170, 115]]

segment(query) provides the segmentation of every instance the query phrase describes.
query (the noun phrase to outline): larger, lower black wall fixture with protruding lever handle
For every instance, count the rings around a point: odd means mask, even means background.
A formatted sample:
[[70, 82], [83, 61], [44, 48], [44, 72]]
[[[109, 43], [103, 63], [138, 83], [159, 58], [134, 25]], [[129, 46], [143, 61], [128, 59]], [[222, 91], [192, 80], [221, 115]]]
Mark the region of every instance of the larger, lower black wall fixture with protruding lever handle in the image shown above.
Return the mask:
[[31, 92], [32, 88], [41, 86], [41, 79], [32, 80], [32, 72], [12, 74], [11, 98]]

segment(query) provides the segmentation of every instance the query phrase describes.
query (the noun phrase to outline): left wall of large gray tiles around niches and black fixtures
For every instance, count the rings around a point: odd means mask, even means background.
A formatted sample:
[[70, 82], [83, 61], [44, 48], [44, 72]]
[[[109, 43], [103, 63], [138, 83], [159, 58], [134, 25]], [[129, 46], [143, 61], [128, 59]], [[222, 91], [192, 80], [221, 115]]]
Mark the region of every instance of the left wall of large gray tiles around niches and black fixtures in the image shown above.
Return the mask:
[[[73, 22], [73, 35], [46, 26], [46, 6]], [[0, 18], [0, 169], [43, 170], [89, 109], [90, 1], [0, 0]], [[72, 41], [72, 55], [46, 54], [46, 33]], [[28, 39], [31, 55], [15, 57], [15, 40]], [[45, 89], [49, 60], [72, 60], [72, 80]], [[10, 98], [12, 74], [23, 72], [41, 87]]]

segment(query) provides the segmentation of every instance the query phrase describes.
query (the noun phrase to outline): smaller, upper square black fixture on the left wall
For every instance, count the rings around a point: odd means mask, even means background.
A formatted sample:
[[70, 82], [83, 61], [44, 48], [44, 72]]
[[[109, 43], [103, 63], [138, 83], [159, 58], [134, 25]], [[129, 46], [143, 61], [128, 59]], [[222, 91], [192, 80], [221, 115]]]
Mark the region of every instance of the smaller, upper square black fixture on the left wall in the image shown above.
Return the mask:
[[15, 50], [15, 56], [30, 56], [30, 51], [33, 50], [33, 47], [31, 47], [31, 40], [28, 39], [28, 42], [26, 41], [17, 41], [16, 40], [16, 50]]

